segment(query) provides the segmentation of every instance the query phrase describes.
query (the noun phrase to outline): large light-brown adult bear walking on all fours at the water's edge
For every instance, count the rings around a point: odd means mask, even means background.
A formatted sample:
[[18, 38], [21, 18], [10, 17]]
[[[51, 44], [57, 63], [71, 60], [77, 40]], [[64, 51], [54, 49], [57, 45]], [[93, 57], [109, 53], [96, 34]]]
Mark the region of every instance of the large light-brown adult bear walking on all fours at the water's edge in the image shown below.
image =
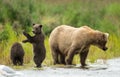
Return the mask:
[[79, 54], [81, 65], [85, 66], [91, 45], [104, 51], [107, 50], [108, 35], [108, 33], [93, 30], [88, 26], [74, 28], [61, 25], [56, 27], [49, 38], [54, 64], [71, 65], [74, 55]]

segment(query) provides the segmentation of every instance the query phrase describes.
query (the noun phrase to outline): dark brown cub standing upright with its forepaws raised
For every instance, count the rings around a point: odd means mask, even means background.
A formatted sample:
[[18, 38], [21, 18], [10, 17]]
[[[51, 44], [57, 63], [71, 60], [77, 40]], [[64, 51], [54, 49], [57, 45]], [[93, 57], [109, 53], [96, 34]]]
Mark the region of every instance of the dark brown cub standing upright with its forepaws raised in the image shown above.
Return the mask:
[[34, 52], [34, 62], [36, 64], [36, 67], [41, 67], [41, 63], [45, 59], [46, 56], [46, 49], [44, 45], [44, 34], [42, 32], [42, 25], [40, 24], [33, 24], [33, 33], [34, 36], [29, 35], [26, 32], [23, 32], [23, 34], [27, 37], [27, 40], [24, 40], [23, 42], [30, 42], [33, 45], [33, 52]]

